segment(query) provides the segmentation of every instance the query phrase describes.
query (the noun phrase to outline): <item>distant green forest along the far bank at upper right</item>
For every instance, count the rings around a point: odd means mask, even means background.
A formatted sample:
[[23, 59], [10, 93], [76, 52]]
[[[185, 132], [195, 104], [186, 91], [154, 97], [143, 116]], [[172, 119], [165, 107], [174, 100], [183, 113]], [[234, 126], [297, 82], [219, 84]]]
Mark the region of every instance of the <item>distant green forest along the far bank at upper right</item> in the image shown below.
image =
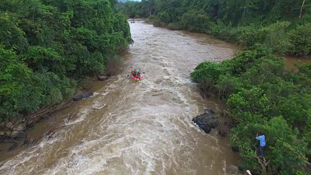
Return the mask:
[[[303, 6], [302, 6], [303, 4]], [[129, 18], [214, 35], [276, 53], [311, 54], [311, 0], [142, 0], [118, 4]]]

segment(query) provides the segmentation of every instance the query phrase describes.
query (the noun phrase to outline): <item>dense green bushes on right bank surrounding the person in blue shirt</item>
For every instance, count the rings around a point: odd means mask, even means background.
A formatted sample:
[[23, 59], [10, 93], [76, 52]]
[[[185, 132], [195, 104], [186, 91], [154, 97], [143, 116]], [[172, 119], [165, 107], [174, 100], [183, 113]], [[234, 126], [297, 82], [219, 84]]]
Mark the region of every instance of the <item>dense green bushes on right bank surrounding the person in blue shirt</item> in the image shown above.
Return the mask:
[[[303, 175], [311, 155], [311, 64], [298, 72], [284, 60], [255, 45], [231, 60], [203, 62], [191, 73], [206, 92], [227, 101], [235, 123], [231, 145], [241, 165], [254, 174]], [[256, 133], [266, 136], [265, 159], [257, 156]]]

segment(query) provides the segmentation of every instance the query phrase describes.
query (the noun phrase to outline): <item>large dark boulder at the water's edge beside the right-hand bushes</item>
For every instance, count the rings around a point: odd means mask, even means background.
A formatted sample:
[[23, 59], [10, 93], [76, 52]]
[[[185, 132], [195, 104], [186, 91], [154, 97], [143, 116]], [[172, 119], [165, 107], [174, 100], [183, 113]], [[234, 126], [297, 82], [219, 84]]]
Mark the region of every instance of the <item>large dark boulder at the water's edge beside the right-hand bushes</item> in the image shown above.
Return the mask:
[[215, 129], [215, 127], [217, 126], [217, 118], [215, 117], [215, 112], [211, 109], [206, 109], [204, 114], [196, 116], [192, 119], [192, 122], [196, 123], [207, 134], [210, 132], [211, 129]]

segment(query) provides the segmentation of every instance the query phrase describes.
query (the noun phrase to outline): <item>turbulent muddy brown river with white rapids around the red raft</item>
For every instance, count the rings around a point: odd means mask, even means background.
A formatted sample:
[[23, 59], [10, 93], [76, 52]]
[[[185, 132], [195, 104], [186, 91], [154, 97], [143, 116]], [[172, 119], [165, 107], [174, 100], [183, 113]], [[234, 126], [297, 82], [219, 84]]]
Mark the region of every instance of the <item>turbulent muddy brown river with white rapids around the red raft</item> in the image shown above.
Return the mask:
[[[135, 43], [122, 55], [121, 71], [92, 83], [94, 96], [54, 114], [64, 127], [27, 150], [0, 152], [3, 175], [236, 175], [238, 155], [228, 138], [204, 133], [192, 118], [204, 108], [190, 72], [202, 61], [221, 62], [238, 48], [203, 34], [130, 23]], [[129, 70], [145, 72], [135, 82]], [[64, 116], [78, 118], [65, 124]], [[46, 121], [29, 132], [46, 131]]]

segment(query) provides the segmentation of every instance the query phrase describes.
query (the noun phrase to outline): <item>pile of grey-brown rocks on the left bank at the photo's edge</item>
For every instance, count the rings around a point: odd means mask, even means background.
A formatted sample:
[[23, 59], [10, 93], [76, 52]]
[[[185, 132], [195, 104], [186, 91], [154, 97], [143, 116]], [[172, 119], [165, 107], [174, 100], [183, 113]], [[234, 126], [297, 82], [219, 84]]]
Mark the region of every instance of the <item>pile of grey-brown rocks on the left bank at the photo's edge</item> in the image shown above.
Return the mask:
[[10, 120], [0, 123], [0, 138], [1, 137], [10, 137], [13, 139], [16, 138], [25, 138], [27, 119], [23, 115], [18, 115], [16, 117], [10, 118]]

